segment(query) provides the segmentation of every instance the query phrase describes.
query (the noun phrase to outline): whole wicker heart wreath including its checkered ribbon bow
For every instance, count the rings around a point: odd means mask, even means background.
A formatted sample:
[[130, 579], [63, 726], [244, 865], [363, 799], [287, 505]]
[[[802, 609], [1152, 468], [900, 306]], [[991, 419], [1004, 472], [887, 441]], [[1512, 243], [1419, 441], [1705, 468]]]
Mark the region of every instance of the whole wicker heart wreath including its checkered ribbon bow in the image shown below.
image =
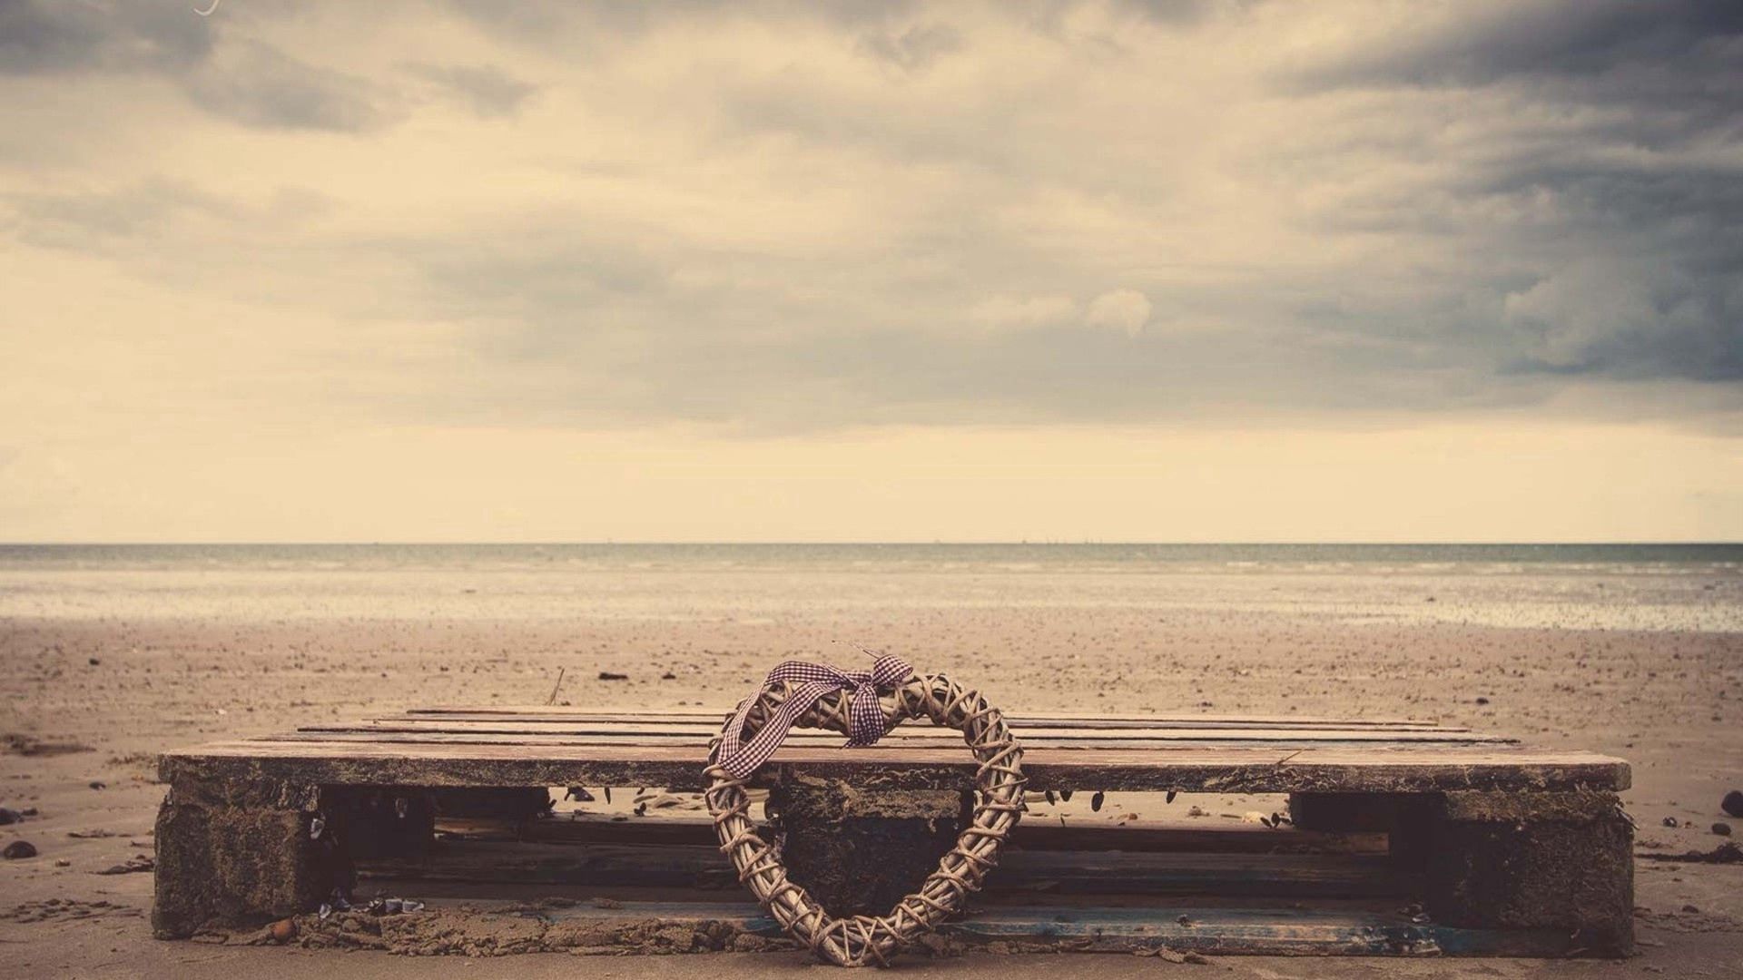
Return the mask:
[[[838, 966], [884, 966], [898, 949], [959, 912], [967, 893], [978, 891], [997, 863], [999, 846], [1023, 813], [1023, 746], [999, 710], [945, 675], [912, 673], [908, 664], [887, 656], [865, 673], [784, 663], [709, 743], [706, 799], [720, 849], [788, 935]], [[887, 915], [835, 919], [804, 886], [786, 877], [777, 849], [756, 835], [744, 786], [788, 727], [838, 731], [849, 736], [849, 746], [858, 746], [920, 717], [960, 731], [980, 764], [974, 814], [955, 847], [938, 861], [938, 870]]]

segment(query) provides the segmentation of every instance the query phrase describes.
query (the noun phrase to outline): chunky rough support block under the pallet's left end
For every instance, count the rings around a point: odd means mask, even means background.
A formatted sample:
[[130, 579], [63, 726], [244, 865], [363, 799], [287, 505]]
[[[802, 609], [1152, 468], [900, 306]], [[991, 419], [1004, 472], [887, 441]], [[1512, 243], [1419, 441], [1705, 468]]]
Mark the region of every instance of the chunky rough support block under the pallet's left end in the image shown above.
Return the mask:
[[188, 938], [314, 909], [343, 874], [310, 837], [315, 786], [178, 779], [157, 814], [152, 931]]

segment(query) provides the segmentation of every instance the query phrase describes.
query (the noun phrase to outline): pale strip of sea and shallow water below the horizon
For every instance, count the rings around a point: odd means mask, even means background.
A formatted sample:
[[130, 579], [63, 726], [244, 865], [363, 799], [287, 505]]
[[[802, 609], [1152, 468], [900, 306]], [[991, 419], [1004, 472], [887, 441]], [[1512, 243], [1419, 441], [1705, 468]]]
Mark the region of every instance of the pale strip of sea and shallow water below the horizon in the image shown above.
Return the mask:
[[0, 544], [0, 619], [964, 605], [1743, 631], [1743, 544]]

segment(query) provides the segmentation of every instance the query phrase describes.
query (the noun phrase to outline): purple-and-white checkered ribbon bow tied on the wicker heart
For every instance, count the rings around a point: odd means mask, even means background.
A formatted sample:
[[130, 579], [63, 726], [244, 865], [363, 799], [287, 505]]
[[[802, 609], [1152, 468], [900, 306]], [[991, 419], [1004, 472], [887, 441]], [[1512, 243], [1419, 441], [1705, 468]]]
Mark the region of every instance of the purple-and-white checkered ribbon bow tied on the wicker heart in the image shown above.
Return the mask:
[[[847, 706], [847, 746], [858, 748], [884, 738], [884, 708], [877, 701], [878, 689], [898, 687], [913, 677], [913, 668], [898, 656], [884, 654], [872, 664], [872, 670], [835, 670], [828, 664], [809, 664], [804, 661], [786, 661], [769, 671], [762, 689], [739, 703], [739, 711], [732, 715], [732, 724], [720, 736], [720, 767], [736, 779], [743, 779], [774, 755], [786, 741], [786, 732], [793, 722], [810, 710], [819, 698], [831, 691], [852, 691]], [[756, 704], [762, 691], [776, 684], [797, 684], [786, 701], [776, 708], [774, 717], [763, 724], [749, 741], [744, 738], [744, 722], [749, 720], [751, 706]]]

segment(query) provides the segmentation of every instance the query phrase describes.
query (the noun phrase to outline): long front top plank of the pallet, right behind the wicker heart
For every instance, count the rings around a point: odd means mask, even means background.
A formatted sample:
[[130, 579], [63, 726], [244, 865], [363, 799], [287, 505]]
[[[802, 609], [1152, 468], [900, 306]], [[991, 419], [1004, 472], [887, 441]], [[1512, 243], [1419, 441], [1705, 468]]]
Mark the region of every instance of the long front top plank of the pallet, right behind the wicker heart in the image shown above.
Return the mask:
[[[370, 745], [352, 741], [234, 741], [162, 757], [180, 774], [279, 778], [302, 783], [424, 786], [695, 785], [694, 748], [621, 745]], [[1034, 790], [1178, 790], [1225, 793], [1448, 792], [1628, 788], [1628, 764], [1586, 752], [1518, 746], [1307, 746], [1175, 745], [1168, 748], [1030, 748], [1023, 771]], [[772, 785], [797, 772], [858, 779], [866, 786], [962, 786], [974, 762], [960, 748], [783, 746], [758, 774]]]

